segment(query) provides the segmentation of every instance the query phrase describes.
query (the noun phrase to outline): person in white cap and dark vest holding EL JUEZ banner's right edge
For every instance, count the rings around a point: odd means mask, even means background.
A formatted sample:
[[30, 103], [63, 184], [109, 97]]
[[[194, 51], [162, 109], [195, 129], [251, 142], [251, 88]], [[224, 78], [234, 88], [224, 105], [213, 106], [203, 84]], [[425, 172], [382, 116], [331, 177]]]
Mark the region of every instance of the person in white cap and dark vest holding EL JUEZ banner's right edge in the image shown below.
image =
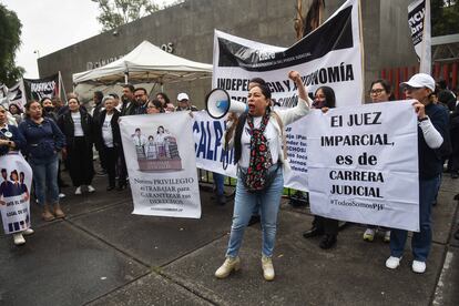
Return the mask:
[[[434, 79], [425, 73], [411, 76], [408, 82], [400, 84], [407, 99], [417, 100], [412, 103], [418, 116], [418, 154], [419, 154], [419, 226], [411, 238], [411, 249], [415, 259], [411, 268], [415, 273], [426, 271], [426, 261], [430, 252], [431, 205], [440, 183], [443, 163], [442, 155], [448, 154], [449, 132], [448, 111], [432, 103], [435, 91]], [[408, 233], [394, 228], [390, 233], [390, 257], [386, 267], [397, 268], [404, 253]]]

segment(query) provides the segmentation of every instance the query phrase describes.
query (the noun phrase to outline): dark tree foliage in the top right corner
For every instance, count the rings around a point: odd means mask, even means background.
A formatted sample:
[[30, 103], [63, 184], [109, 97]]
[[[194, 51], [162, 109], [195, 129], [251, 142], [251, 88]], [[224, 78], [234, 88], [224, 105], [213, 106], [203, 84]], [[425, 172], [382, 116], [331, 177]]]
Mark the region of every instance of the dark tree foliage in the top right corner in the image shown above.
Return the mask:
[[430, 0], [432, 37], [459, 33], [459, 1]]

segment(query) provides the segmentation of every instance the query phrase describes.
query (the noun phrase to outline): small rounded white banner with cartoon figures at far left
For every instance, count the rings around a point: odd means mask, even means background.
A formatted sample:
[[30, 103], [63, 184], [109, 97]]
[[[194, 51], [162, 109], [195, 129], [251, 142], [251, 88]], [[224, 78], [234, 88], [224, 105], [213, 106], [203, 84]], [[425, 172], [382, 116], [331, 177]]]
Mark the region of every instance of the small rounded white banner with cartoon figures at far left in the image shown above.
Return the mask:
[[18, 152], [0, 156], [0, 211], [6, 234], [30, 227], [32, 169]]

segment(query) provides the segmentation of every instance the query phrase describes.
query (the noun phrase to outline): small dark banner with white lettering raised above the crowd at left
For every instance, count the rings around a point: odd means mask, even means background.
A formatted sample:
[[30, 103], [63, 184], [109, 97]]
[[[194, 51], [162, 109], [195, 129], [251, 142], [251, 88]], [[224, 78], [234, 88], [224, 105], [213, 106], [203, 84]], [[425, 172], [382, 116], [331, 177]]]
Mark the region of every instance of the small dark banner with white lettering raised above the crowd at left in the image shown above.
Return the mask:
[[26, 95], [28, 99], [40, 101], [43, 98], [60, 96], [60, 73], [41, 79], [23, 79]]

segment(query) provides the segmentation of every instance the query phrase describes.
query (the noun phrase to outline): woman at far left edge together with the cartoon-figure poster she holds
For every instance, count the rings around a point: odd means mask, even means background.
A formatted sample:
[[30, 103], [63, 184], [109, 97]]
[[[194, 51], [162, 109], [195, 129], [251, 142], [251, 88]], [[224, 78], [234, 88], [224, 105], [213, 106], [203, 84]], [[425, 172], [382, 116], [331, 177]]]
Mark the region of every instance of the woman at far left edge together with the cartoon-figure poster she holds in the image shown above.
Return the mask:
[[[29, 217], [29, 191], [27, 186], [24, 186], [23, 180], [19, 183], [18, 176], [19, 165], [22, 167], [20, 170], [21, 177], [24, 176], [23, 171], [28, 171], [29, 173], [32, 172], [22, 155], [18, 153], [18, 151], [23, 149], [24, 145], [24, 137], [19, 132], [18, 128], [8, 124], [7, 110], [0, 105], [0, 164], [2, 167], [0, 177], [0, 210], [2, 214], [3, 227], [7, 233], [12, 233], [16, 245], [26, 243], [23, 235], [33, 234], [33, 230], [30, 227]], [[27, 206], [26, 216], [22, 220], [13, 220], [14, 217], [7, 216], [7, 213], [8, 215], [18, 215], [18, 213], [13, 211], [7, 212], [7, 202], [18, 196], [20, 200], [23, 200], [23, 206]], [[19, 205], [13, 206], [19, 207]], [[23, 211], [23, 206], [21, 206], [21, 211]]]

